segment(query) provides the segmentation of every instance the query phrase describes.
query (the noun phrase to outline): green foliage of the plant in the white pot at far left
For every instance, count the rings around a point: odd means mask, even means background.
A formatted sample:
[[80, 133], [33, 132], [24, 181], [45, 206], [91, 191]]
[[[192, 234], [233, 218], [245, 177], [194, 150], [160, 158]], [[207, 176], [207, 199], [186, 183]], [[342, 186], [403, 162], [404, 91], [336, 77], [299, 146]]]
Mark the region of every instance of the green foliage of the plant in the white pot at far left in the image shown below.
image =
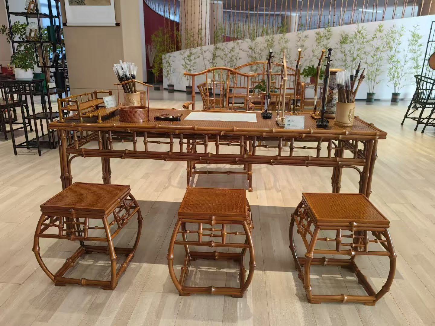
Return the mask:
[[[21, 41], [27, 40], [26, 28], [26, 23], [20, 23], [19, 21], [13, 23], [13, 37]], [[0, 34], [6, 35], [7, 43], [12, 42], [9, 27], [2, 25], [0, 28]], [[33, 70], [35, 63], [35, 48], [33, 47], [33, 44], [30, 43], [18, 44], [15, 53], [10, 57], [10, 65], [14, 66], [15, 68], [23, 69], [25, 71]]]

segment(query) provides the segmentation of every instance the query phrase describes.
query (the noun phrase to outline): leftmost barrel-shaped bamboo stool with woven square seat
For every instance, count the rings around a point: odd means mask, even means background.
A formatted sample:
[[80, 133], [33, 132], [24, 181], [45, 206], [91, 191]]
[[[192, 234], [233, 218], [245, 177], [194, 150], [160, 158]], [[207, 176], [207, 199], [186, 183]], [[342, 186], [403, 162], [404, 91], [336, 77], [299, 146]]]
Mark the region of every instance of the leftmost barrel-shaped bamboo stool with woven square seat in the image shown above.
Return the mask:
[[[127, 269], [128, 263], [134, 256], [139, 244], [142, 229], [142, 214], [137, 201], [130, 193], [130, 186], [73, 183], [56, 196], [41, 205], [42, 215], [39, 219], [33, 240], [33, 252], [43, 271], [50, 277], [56, 286], [65, 284], [80, 284], [82, 286], [101, 286], [105, 290], [113, 290], [118, 284], [118, 279]], [[113, 239], [128, 221], [137, 213], [137, 235], [133, 248], [114, 247]], [[107, 218], [113, 214], [113, 221]], [[101, 220], [103, 226], [91, 226], [92, 221]], [[92, 223], [93, 224], [93, 223]], [[110, 227], [117, 229], [112, 233]], [[81, 230], [83, 226], [83, 230]], [[57, 233], [51, 232], [58, 229]], [[104, 230], [105, 236], [88, 236], [89, 230]], [[57, 273], [53, 274], [45, 266], [40, 256], [39, 238], [53, 238], [65, 240], [78, 240], [80, 247], [67, 258], [64, 265]], [[89, 246], [84, 241], [107, 242], [107, 246]], [[110, 281], [94, 279], [74, 279], [63, 277], [68, 269], [85, 253], [105, 253], [110, 256], [111, 277]], [[116, 270], [116, 254], [127, 256], [124, 263]]]

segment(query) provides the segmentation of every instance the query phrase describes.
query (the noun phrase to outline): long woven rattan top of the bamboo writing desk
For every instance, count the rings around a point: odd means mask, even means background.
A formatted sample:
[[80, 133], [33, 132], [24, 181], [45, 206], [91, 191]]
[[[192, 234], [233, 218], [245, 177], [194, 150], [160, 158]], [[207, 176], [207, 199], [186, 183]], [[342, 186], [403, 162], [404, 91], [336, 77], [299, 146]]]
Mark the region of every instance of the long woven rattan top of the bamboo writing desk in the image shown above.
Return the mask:
[[[209, 120], [185, 120], [185, 118], [191, 112], [201, 112], [192, 110], [173, 110], [173, 109], [150, 109], [149, 120], [143, 122], [120, 122], [119, 116], [112, 116], [102, 123], [96, 123], [93, 120], [86, 120], [83, 123], [78, 121], [68, 121], [60, 123], [58, 121], [49, 124], [50, 129], [68, 129], [74, 130], [82, 128], [83, 130], [126, 130], [137, 129], [147, 131], [149, 129], [164, 130], [165, 127], [171, 130], [207, 130], [207, 131], [248, 131], [248, 132], [261, 132], [263, 134], [277, 132], [282, 133], [295, 133], [297, 130], [284, 130], [282, 126], [278, 126], [275, 122], [276, 113], [273, 113], [273, 117], [270, 120], [264, 120], [261, 118], [260, 112], [246, 112], [246, 111], [230, 111], [231, 113], [248, 113], [255, 114], [257, 117], [256, 122], [240, 122], [240, 121], [209, 121]], [[211, 113], [222, 113], [223, 111], [204, 111]], [[228, 111], [225, 111], [228, 112]], [[170, 115], [180, 115], [181, 121], [155, 121], [154, 116], [169, 113]], [[335, 126], [333, 120], [329, 120], [329, 126], [327, 128], [316, 128], [316, 120], [312, 119], [309, 113], [301, 113], [305, 116], [305, 128], [299, 130], [301, 133], [307, 134], [338, 134], [338, 135], [361, 135], [361, 136], [375, 136], [379, 138], [385, 138], [387, 133], [382, 131], [371, 123], [367, 123], [358, 117], [355, 117], [354, 125], [351, 127]], [[73, 128], [72, 128], [73, 127]], [[150, 130], [151, 131], [151, 130]]]

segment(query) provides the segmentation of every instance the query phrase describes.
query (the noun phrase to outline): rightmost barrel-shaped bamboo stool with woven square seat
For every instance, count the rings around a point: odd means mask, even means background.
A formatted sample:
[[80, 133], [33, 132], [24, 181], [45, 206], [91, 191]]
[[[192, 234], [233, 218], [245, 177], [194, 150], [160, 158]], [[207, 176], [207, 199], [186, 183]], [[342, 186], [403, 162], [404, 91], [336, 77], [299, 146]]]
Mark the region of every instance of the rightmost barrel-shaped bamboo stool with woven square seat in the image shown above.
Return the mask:
[[[294, 245], [293, 227], [295, 223], [307, 249], [305, 257], [301, 258], [296, 254]], [[363, 194], [303, 193], [301, 203], [291, 214], [290, 249], [294, 264], [299, 272], [298, 277], [304, 283], [308, 302], [358, 302], [364, 303], [366, 306], [374, 306], [389, 291], [396, 270], [396, 254], [388, 232], [389, 226], [390, 221]], [[336, 236], [335, 238], [320, 237], [321, 230], [336, 230]], [[351, 234], [341, 234], [342, 230], [351, 231]], [[375, 239], [369, 239], [369, 232]], [[307, 239], [308, 234], [311, 239]], [[350, 239], [351, 243], [342, 242], [343, 238]], [[335, 250], [315, 249], [317, 241], [335, 242]], [[386, 251], [368, 250], [370, 243], [380, 243]], [[314, 257], [314, 254], [346, 255], [351, 258], [338, 259], [326, 258], [325, 256], [317, 258]], [[390, 258], [388, 278], [378, 293], [368, 283], [367, 277], [358, 269], [355, 257], [359, 255], [388, 256]], [[357, 276], [358, 283], [362, 285], [368, 295], [311, 294], [311, 265], [332, 265], [351, 269]]]

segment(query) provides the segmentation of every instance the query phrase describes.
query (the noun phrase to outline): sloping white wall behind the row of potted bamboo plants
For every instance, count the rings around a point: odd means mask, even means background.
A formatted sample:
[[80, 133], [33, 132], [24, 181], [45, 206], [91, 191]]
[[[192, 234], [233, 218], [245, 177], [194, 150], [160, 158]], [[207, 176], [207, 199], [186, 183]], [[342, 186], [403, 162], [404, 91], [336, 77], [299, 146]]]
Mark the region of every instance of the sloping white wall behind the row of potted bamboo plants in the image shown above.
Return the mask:
[[[397, 25], [398, 27], [400, 26], [404, 26], [405, 27], [405, 35], [403, 37], [402, 40], [402, 47], [407, 47], [408, 44], [408, 37], [410, 34], [410, 31], [412, 29], [412, 27], [414, 25], [418, 25], [419, 27], [419, 33], [422, 34], [422, 39], [421, 39], [421, 43], [424, 45], [423, 46], [423, 56], [421, 58], [421, 61], [423, 62], [423, 57], [424, 57], [424, 52], [426, 49], [426, 43], [428, 40], [428, 33], [430, 30], [430, 26], [432, 23], [432, 20], [435, 20], [435, 15], [431, 15], [431, 16], [422, 16], [422, 17], [412, 17], [412, 18], [404, 18], [404, 19], [396, 19], [396, 20], [386, 20], [386, 21], [382, 21], [382, 22], [372, 22], [372, 23], [362, 23], [361, 25], [363, 25], [364, 27], [367, 28], [368, 34], [371, 36], [375, 29], [378, 27], [378, 25], [380, 23], [382, 23], [384, 25], [385, 30], [389, 29], [390, 27], [392, 27], [393, 25]], [[357, 25], [347, 25], [347, 26], [338, 26], [338, 27], [332, 27], [332, 38], [328, 43], [328, 46], [331, 47], [333, 49], [332, 52], [332, 58], [333, 58], [333, 66], [335, 67], [340, 67], [340, 62], [342, 61], [342, 57], [338, 51], [338, 43], [340, 40], [340, 33], [341, 32], [347, 32], [347, 33], [353, 33], [357, 28]], [[271, 37], [258, 37], [255, 40], [255, 44], [257, 47], [262, 48], [262, 53], [261, 53], [261, 57], [259, 58], [259, 60], [266, 60], [266, 56], [267, 56], [267, 46], [266, 46], [266, 41], [269, 38], [273, 38], [274, 40], [274, 55], [275, 55], [275, 62], [280, 61], [279, 58], [282, 57], [282, 55], [279, 53], [279, 49], [280, 49], [280, 40], [281, 40], [281, 44], [282, 44], [282, 40], [283, 38], [285, 38], [285, 40], [288, 41], [288, 49], [290, 52], [290, 56], [287, 55], [288, 57], [288, 66], [290, 67], [294, 67], [294, 59], [296, 57], [296, 53], [297, 53], [297, 49], [298, 47], [300, 47], [300, 42], [298, 42], [298, 40], [301, 37], [305, 37], [306, 41], [305, 41], [305, 52], [302, 54], [304, 56], [305, 62], [303, 61], [302, 63], [304, 65], [308, 64], [308, 61], [311, 62], [311, 64], [316, 62], [316, 57], [318, 57], [320, 55], [320, 50], [318, 49], [318, 45], [316, 45], [315, 43], [315, 33], [316, 31], [319, 30], [308, 30], [305, 31], [303, 33], [287, 33], [285, 35], [274, 35]], [[281, 38], [280, 38], [281, 37]], [[252, 45], [252, 41], [251, 40], [240, 40], [240, 41], [234, 41], [234, 42], [228, 42], [228, 43], [223, 43], [220, 44], [220, 46], [226, 48], [226, 49], [231, 49], [231, 47], [236, 48], [237, 49], [237, 53], [238, 53], [238, 58], [237, 58], [237, 65], [241, 65], [244, 63], [248, 63], [251, 62], [251, 60], [248, 60], [248, 54], [247, 54], [247, 49], [248, 46]], [[204, 46], [201, 47], [202, 48], [202, 52], [204, 53], [204, 60], [205, 60], [205, 66], [206, 68], [211, 67], [207, 60], [210, 59], [210, 54], [211, 51], [213, 50], [214, 45], [208, 45], [208, 46]], [[197, 67], [197, 69], [195, 71], [192, 72], [200, 72], [202, 70], [204, 70], [204, 60], [203, 60], [203, 56], [201, 55], [201, 48], [196, 48], [195, 51], [197, 51], [198, 55], [200, 56], [195, 63], [195, 67]], [[182, 69], [182, 63], [183, 63], [183, 51], [177, 51], [174, 53], [170, 53], [169, 54], [171, 56], [171, 60], [172, 60], [172, 64], [173, 64], [173, 69], [175, 70], [175, 73], [173, 75], [172, 78], [172, 82], [175, 85], [175, 89], [176, 90], [185, 90], [186, 86], [187, 86], [187, 80], [184, 78], [183, 76], [183, 72], [184, 70]], [[376, 98], [378, 99], [391, 99], [391, 93], [394, 91], [393, 87], [388, 83], [388, 77], [387, 77], [387, 68], [388, 68], [388, 63], [387, 63], [387, 59], [385, 58], [384, 60], [384, 64], [382, 65], [382, 69], [383, 72], [381, 73], [380, 79], [381, 83], [379, 83], [376, 87], [375, 87], [375, 93], [376, 93]], [[317, 65], [317, 62], [315, 63]], [[223, 62], [221, 59], [218, 59], [217, 62], [218, 66], [225, 66], [225, 62]], [[302, 67], [303, 68], [303, 67]], [[362, 70], [362, 64], [361, 64], [361, 70]], [[164, 78], [163, 80], [164, 82], [164, 87], [167, 87], [167, 78]], [[196, 81], [196, 85], [198, 84], [198, 82], [200, 83], [201, 81]], [[401, 98], [411, 98], [412, 94], [414, 93], [415, 90], [415, 79], [410, 79], [409, 82], [406, 83], [406, 86], [402, 88], [401, 90]], [[368, 92], [368, 86], [367, 83], [364, 82], [362, 83], [359, 91], [358, 91], [358, 99], [365, 99], [366, 97], [366, 93]], [[307, 94], [307, 96], [310, 96], [309, 94]]]

